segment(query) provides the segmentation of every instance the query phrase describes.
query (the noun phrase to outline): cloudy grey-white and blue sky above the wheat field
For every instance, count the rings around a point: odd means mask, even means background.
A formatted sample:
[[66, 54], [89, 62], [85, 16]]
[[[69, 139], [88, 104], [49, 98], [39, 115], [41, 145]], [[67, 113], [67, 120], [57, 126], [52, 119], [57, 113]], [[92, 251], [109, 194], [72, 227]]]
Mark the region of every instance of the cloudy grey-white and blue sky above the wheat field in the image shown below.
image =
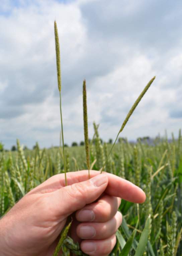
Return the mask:
[[89, 137], [114, 139], [148, 81], [156, 80], [122, 137], [178, 135], [182, 124], [181, 0], [1, 0], [0, 142], [59, 145], [60, 110], [54, 20], [61, 47], [65, 143], [84, 140], [86, 79]]

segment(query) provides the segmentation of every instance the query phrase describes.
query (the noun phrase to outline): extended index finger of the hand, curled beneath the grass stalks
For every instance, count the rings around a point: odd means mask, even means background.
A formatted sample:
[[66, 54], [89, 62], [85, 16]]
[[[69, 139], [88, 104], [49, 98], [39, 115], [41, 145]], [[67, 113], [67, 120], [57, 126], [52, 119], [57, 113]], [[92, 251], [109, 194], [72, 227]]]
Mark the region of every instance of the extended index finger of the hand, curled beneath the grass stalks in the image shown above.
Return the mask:
[[[106, 172], [104, 172], [106, 173]], [[100, 171], [90, 170], [90, 177], [100, 174]], [[134, 185], [128, 180], [122, 179], [114, 174], [106, 173], [108, 176], [108, 185], [105, 192], [109, 195], [120, 197], [130, 202], [143, 203], [146, 199], [144, 191], [138, 186]], [[88, 180], [88, 170], [68, 172], [67, 183], [72, 185], [74, 183]], [[65, 186], [65, 174], [57, 174], [52, 176], [47, 181], [40, 184], [37, 188], [39, 190], [46, 190], [47, 192], [55, 191]], [[35, 188], [36, 189], [36, 188]]]

